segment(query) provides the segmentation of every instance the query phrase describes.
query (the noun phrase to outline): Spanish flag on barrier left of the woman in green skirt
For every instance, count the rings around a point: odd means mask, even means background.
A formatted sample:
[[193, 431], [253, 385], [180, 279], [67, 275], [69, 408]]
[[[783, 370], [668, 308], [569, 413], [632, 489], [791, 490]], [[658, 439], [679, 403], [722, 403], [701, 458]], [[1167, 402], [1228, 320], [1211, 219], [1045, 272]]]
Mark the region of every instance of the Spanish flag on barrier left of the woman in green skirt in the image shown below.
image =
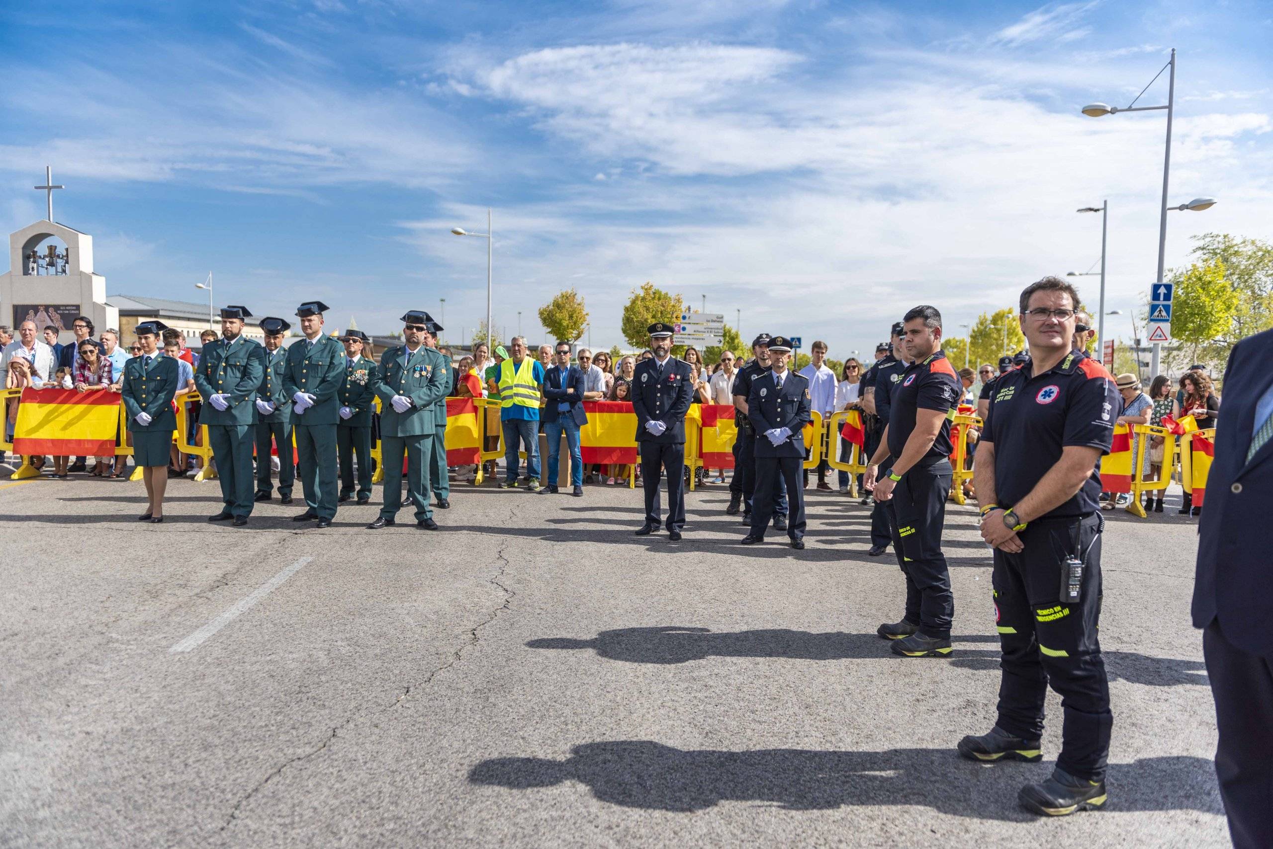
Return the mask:
[[115, 454], [120, 397], [113, 391], [24, 389], [18, 405], [13, 452], [23, 456], [104, 456]]

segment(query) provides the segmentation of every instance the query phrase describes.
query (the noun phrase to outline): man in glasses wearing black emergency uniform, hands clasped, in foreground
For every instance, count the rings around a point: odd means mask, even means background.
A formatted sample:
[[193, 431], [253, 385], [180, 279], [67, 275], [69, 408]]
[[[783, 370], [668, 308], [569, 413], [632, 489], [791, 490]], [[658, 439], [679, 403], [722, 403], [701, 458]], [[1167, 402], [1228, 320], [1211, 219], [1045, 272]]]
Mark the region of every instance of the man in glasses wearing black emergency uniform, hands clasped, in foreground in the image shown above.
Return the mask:
[[1097, 464], [1114, 440], [1114, 379], [1072, 350], [1078, 292], [1044, 277], [1021, 292], [1032, 358], [995, 380], [973, 466], [981, 536], [994, 548], [995, 627], [1003, 648], [998, 718], [959, 751], [981, 763], [1043, 757], [1048, 684], [1062, 698], [1057, 768], [1021, 805], [1062, 816], [1105, 805], [1109, 684], [1097, 641], [1101, 492]]

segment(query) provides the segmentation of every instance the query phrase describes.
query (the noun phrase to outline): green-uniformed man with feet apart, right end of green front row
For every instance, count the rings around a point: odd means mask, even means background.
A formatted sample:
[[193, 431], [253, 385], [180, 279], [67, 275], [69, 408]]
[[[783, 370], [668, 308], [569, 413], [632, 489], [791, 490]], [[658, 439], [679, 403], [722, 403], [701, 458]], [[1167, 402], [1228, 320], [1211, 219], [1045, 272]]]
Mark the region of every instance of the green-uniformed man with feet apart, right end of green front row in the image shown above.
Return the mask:
[[424, 310], [402, 316], [402, 342], [381, 355], [381, 463], [384, 505], [369, 529], [392, 525], [402, 507], [402, 458], [406, 458], [407, 498], [415, 505], [415, 524], [438, 530], [429, 505], [429, 456], [438, 432], [437, 404], [447, 403], [451, 363], [424, 343], [433, 320]]

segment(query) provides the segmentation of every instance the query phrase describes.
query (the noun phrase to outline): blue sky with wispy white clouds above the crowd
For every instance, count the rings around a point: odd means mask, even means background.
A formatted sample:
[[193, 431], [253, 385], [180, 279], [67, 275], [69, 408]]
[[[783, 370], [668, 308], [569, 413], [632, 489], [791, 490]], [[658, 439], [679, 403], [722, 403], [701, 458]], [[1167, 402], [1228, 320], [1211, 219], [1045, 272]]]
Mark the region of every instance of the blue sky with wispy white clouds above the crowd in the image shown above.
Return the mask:
[[[285, 3], [0, 6], [0, 225], [94, 235], [111, 292], [452, 338], [540, 336], [574, 286], [592, 343], [645, 280], [746, 336], [867, 351], [919, 302], [947, 334], [1100, 254], [1109, 309], [1153, 278], [1164, 113], [1125, 104], [1179, 50], [1169, 264], [1273, 238], [1265, 3]], [[1142, 104], [1166, 98], [1166, 75]], [[1083, 278], [1095, 301], [1095, 278]], [[1090, 292], [1088, 292], [1090, 290]], [[1114, 319], [1125, 323], [1125, 316]], [[1119, 324], [1114, 332], [1125, 333]]]

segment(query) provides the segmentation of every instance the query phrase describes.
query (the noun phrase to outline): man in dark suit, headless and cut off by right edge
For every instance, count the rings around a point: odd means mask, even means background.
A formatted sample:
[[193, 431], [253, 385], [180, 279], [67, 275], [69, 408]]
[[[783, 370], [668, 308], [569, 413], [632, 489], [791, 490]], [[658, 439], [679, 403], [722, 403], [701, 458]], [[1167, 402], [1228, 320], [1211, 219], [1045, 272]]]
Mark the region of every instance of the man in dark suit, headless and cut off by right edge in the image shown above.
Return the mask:
[[1273, 330], [1234, 346], [1207, 475], [1193, 624], [1216, 698], [1216, 773], [1237, 849], [1273, 845]]

